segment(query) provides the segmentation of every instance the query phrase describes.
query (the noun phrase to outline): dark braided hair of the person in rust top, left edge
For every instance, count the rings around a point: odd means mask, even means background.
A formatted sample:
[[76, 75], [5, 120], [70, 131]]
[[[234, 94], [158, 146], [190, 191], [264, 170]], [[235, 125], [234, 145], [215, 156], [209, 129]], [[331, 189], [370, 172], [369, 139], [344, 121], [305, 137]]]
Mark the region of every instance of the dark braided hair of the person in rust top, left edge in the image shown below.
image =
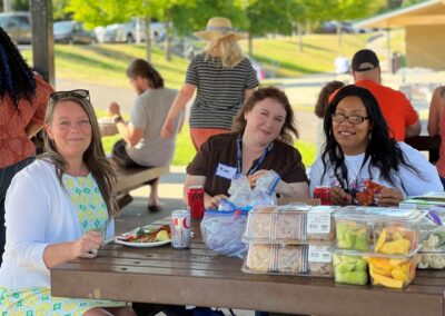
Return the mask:
[[9, 96], [14, 107], [36, 96], [36, 78], [8, 33], [0, 28], [0, 98]]

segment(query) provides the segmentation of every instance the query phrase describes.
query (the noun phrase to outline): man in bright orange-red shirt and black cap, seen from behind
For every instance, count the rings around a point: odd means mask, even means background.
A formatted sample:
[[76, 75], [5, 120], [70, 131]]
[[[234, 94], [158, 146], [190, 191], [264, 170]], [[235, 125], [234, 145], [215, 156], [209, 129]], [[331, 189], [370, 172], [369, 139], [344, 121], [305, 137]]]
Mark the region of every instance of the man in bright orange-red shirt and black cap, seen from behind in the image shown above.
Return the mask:
[[362, 49], [353, 58], [356, 86], [368, 89], [377, 99], [389, 127], [390, 137], [404, 141], [421, 134], [421, 121], [411, 101], [400, 91], [380, 85], [380, 66], [376, 53]]

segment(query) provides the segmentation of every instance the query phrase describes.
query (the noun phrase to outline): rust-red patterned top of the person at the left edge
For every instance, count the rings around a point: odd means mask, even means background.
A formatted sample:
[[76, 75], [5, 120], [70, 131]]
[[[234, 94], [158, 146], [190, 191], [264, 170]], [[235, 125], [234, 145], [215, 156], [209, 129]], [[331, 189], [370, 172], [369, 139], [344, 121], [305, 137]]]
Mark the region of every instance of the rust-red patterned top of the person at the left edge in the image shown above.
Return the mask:
[[12, 166], [36, 152], [24, 129], [30, 122], [43, 125], [49, 95], [53, 91], [39, 75], [36, 75], [36, 96], [31, 103], [21, 99], [16, 108], [8, 93], [1, 99], [0, 168]]

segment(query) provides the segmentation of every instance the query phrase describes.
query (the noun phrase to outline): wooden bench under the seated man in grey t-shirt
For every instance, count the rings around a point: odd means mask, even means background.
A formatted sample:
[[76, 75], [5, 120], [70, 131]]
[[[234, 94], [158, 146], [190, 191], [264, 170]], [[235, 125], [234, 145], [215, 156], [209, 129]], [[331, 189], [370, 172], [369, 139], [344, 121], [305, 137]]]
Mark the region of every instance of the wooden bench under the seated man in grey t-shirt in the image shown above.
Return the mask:
[[170, 171], [170, 166], [154, 167], [154, 168], [126, 168], [119, 164], [118, 167], [118, 181], [113, 187], [113, 194], [117, 197], [119, 208], [132, 201], [130, 190], [145, 186], [148, 181], [160, 178]]

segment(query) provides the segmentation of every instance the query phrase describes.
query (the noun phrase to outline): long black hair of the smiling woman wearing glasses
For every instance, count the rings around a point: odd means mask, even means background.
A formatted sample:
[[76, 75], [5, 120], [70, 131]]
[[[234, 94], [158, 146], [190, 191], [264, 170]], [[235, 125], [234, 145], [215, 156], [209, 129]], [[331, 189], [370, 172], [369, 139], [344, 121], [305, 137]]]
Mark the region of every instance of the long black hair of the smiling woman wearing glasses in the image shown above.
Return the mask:
[[326, 144], [323, 148], [322, 159], [325, 170], [322, 179], [326, 174], [327, 164], [334, 167], [334, 174], [342, 188], [349, 191], [348, 187], [348, 171], [345, 164], [345, 155], [342, 147], [334, 137], [333, 131], [333, 119], [332, 115], [335, 113], [338, 103], [346, 97], [357, 97], [362, 100], [366, 108], [369, 124], [373, 125], [370, 130], [369, 141], [366, 147], [365, 161], [370, 159], [368, 171], [372, 176], [372, 167], [380, 170], [380, 176], [392, 185], [394, 182], [394, 171], [397, 172], [400, 165], [405, 165], [407, 168], [419, 175], [419, 171], [411, 166], [404, 154], [398, 146], [397, 141], [389, 138], [388, 125], [382, 113], [380, 107], [376, 98], [365, 88], [360, 88], [354, 85], [345, 86], [338, 90], [334, 99], [330, 101], [324, 121], [324, 131], [326, 136]]

